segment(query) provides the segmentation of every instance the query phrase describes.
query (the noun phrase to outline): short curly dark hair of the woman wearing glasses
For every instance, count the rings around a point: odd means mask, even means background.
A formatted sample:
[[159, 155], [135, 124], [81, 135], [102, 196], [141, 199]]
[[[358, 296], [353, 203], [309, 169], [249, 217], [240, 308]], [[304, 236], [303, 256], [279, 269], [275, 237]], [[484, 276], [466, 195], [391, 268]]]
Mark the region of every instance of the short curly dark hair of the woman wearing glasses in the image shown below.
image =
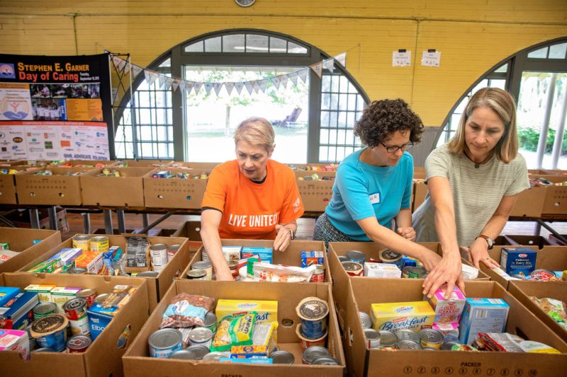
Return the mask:
[[421, 140], [423, 122], [404, 100], [373, 101], [362, 112], [354, 134], [363, 144], [374, 148], [396, 131], [410, 130], [410, 141], [417, 144]]

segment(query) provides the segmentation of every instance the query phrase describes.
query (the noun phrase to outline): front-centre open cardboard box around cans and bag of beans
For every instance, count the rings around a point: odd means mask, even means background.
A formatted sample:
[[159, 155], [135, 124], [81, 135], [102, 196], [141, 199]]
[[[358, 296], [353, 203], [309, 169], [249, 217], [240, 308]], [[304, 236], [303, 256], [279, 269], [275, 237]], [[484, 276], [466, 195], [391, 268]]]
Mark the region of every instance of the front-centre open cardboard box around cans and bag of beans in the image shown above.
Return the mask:
[[[298, 289], [301, 288], [301, 289]], [[203, 296], [247, 300], [278, 301], [278, 344], [279, 349], [293, 353], [293, 365], [252, 365], [228, 364], [218, 361], [167, 360], [149, 356], [147, 340], [159, 329], [162, 315], [171, 299], [180, 293], [201, 294]], [[300, 319], [296, 313], [299, 302], [306, 297], [318, 297], [329, 304], [327, 327], [327, 348], [339, 365], [305, 365], [301, 364], [301, 347], [296, 335], [296, 326]], [[156, 310], [147, 320], [132, 346], [124, 354], [124, 374], [130, 377], [177, 376], [329, 376], [342, 377], [344, 373], [344, 354], [337, 325], [337, 316], [332, 301], [331, 287], [327, 283], [286, 284], [267, 282], [205, 282], [176, 280]], [[293, 325], [284, 326], [283, 320]]]

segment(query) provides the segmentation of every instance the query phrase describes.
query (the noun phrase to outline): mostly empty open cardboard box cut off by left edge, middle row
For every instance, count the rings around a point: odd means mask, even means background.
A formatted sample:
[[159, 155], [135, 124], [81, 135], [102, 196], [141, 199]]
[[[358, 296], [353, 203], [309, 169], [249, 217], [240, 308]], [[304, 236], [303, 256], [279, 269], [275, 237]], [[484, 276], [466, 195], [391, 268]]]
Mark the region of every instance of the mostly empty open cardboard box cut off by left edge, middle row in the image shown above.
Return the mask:
[[[41, 240], [33, 244], [32, 241]], [[0, 264], [1, 272], [15, 272], [27, 265], [35, 258], [43, 255], [47, 250], [55, 248], [61, 243], [60, 231], [44, 229], [0, 228], [0, 242], [8, 243], [9, 249], [18, 252]]]

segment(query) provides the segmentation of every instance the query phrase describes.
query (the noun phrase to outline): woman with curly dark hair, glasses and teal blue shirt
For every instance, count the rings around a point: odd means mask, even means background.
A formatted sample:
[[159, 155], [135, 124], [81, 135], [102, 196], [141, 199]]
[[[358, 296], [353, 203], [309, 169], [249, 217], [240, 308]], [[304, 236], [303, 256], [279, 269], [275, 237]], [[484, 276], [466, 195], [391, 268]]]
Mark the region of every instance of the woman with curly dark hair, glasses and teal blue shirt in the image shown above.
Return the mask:
[[[337, 168], [332, 199], [315, 222], [313, 239], [374, 241], [416, 257], [430, 271], [441, 257], [415, 242], [411, 195], [413, 158], [406, 150], [420, 141], [420, 117], [404, 100], [374, 101], [354, 127], [366, 148]], [[393, 231], [395, 229], [395, 231]]]

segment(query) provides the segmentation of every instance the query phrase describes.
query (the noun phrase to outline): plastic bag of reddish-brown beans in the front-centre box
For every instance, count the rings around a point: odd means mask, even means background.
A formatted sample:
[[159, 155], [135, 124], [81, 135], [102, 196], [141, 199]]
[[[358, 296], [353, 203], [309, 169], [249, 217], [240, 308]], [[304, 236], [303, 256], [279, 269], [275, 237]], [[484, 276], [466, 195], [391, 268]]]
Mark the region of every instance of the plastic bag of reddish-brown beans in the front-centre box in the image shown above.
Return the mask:
[[215, 302], [214, 298], [198, 294], [178, 294], [170, 301], [159, 327], [203, 326], [205, 315]]

